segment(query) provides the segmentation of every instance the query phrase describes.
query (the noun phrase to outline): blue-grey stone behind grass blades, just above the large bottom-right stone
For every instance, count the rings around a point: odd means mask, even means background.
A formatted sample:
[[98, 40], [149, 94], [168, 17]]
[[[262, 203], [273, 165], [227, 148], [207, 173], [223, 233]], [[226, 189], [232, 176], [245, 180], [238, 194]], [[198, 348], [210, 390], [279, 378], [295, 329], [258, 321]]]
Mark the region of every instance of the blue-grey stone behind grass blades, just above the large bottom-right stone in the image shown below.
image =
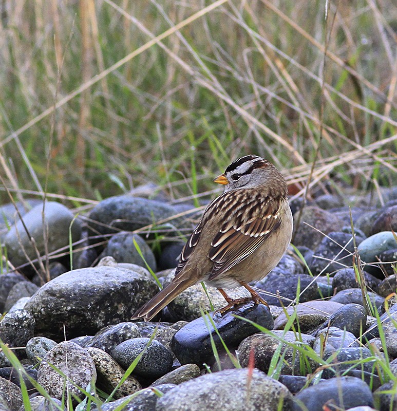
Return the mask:
[[[367, 371], [370, 373], [376, 372], [374, 371], [374, 363], [375, 360], [371, 360], [368, 362], [360, 362], [360, 360], [372, 357], [372, 353], [368, 348], [365, 347], [344, 347], [337, 351], [336, 356], [334, 353], [326, 353], [324, 359], [327, 360], [330, 356], [332, 356], [332, 362], [336, 363], [333, 364], [332, 367], [326, 368], [323, 371], [322, 377], [325, 379], [333, 378], [338, 375], [341, 375], [346, 370], [359, 370]], [[350, 363], [350, 361], [357, 362], [357, 364]], [[348, 363], [349, 362], [349, 363]], [[360, 362], [360, 364], [358, 364]], [[360, 404], [357, 404], [360, 405]], [[364, 404], [361, 404], [364, 405]], [[367, 404], [369, 405], [369, 404]]]

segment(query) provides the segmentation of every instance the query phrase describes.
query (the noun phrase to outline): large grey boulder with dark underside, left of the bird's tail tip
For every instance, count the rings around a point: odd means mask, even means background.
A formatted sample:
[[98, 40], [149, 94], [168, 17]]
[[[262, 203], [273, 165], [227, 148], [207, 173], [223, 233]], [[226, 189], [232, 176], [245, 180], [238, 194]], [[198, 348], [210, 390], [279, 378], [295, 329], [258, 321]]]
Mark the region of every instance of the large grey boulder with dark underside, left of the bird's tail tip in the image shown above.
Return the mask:
[[[26, 305], [36, 320], [35, 333], [54, 340], [96, 333], [131, 315], [158, 291], [155, 282], [112, 267], [69, 271], [45, 284]], [[51, 321], [48, 321], [48, 319]]]

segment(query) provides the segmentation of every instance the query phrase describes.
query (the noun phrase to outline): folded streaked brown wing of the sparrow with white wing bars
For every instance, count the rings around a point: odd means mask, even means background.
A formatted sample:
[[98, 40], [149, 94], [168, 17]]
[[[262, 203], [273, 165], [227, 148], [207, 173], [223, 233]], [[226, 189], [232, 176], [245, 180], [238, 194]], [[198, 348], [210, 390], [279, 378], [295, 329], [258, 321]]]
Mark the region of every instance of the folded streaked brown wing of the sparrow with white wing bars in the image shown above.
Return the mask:
[[[208, 257], [214, 261], [209, 276], [216, 276], [231, 269], [252, 254], [280, 226], [280, 200], [262, 195], [242, 199], [244, 207], [237, 207], [234, 213], [226, 213], [229, 219], [211, 242]], [[235, 195], [235, 194], [234, 194]], [[243, 221], [248, 221], [243, 224]]]

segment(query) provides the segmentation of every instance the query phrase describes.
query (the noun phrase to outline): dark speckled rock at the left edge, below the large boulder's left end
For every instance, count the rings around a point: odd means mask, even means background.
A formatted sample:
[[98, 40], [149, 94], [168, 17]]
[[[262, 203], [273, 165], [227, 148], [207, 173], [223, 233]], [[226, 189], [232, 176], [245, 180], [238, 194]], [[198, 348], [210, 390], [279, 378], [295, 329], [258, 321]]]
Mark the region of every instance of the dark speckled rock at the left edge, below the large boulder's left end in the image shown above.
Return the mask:
[[[9, 347], [24, 347], [33, 337], [34, 332], [33, 315], [26, 310], [9, 312], [0, 321], [0, 339]], [[22, 354], [21, 350], [14, 351]]]

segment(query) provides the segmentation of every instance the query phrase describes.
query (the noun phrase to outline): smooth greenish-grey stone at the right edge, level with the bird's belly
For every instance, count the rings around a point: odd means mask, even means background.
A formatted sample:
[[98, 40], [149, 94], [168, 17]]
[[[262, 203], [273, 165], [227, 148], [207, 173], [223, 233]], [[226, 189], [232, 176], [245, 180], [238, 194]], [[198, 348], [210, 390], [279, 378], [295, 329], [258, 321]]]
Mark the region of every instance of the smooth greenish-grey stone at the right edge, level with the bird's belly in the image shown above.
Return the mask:
[[391, 231], [381, 231], [366, 238], [358, 246], [358, 252], [362, 261], [367, 263], [364, 266], [365, 271], [383, 278], [382, 271], [370, 263], [377, 263], [377, 258], [383, 252], [397, 248], [397, 241]]

